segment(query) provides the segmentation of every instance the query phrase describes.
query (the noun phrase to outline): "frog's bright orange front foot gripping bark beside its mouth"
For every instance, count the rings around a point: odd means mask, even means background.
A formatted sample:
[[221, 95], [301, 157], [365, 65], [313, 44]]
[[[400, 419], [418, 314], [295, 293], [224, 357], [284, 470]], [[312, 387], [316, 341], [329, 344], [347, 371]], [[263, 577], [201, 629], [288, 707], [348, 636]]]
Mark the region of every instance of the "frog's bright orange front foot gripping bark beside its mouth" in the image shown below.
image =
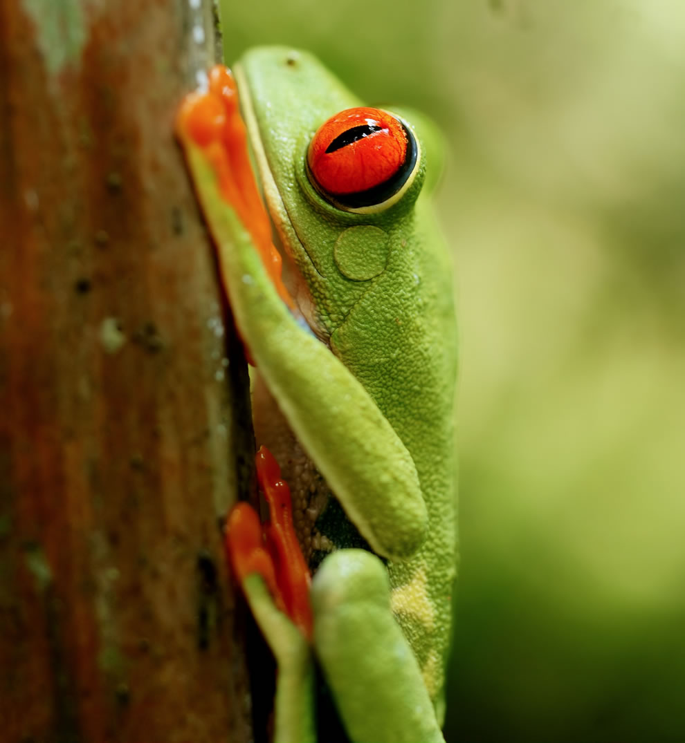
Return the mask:
[[209, 73], [209, 90], [184, 98], [176, 131], [181, 142], [190, 140], [205, 152], [224, 201], [250, 233], [280, 298], [292, 309], [292, 299], [281, 279], [282, 259], [271, 241], [271, 222], [250, 165], [236, 83], [228, 68], [215, 65]]

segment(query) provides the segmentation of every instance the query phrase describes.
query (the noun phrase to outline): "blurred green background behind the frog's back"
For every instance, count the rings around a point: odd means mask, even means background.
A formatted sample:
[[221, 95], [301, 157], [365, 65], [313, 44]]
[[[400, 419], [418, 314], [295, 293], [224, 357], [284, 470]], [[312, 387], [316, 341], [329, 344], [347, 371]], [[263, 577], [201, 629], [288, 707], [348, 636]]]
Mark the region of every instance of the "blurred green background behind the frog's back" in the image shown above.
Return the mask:
[[251, 0], [224, 18], [228, 59], [308, 48], [448, 137], [448, 742], [685, 741], [685, 4]]

